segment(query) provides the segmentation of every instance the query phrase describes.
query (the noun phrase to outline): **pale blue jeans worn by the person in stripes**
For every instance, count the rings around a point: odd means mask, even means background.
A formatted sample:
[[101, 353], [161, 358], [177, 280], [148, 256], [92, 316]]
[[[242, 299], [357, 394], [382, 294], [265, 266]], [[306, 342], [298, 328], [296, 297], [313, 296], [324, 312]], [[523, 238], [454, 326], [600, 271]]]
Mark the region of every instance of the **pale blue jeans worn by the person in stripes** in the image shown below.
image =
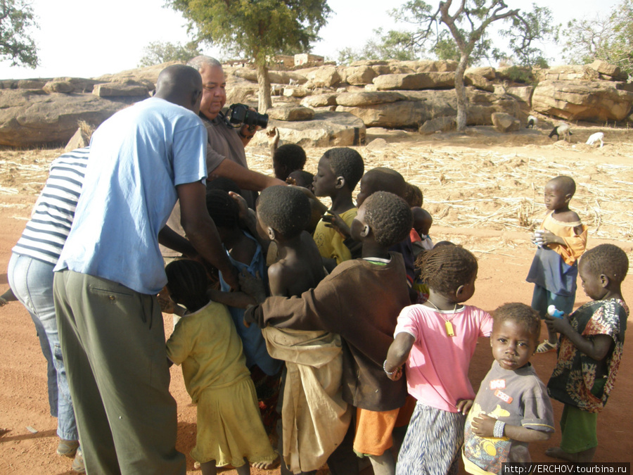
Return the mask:
[[57, 417], [57, 435], [66, 441], [77, 441], [79, 435], [75, 411], [70, 399], [55, 318], [53, 267], [48, 262], [13, 253], [7, 274], [13, 293], [33, 319], [41, 351], [48, 362], [49, 404], [51, 415]]

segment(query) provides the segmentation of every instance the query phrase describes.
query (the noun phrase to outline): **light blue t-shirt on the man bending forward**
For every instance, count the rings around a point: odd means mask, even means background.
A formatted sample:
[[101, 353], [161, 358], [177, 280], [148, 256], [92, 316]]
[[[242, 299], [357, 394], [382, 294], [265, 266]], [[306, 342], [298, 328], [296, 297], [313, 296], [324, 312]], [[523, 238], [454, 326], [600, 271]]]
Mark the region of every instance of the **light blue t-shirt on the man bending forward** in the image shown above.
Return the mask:
[[164, 99], [146, 99], [103, 122], [55, 270], [158, 293], [167, 283], [158, 232], [176, 203], [176, 185], [206, 177], [206, 146], [200, 118]]

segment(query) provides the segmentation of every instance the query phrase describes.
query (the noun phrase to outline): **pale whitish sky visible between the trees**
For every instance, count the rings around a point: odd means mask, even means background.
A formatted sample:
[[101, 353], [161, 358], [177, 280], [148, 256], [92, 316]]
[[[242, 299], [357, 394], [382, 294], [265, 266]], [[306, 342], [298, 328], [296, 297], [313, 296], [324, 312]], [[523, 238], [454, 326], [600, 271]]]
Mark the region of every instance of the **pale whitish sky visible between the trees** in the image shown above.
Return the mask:
[[[549, 6], [556, 23], [597, 13], [608, 15], [621, 0], [535, 0]], [[39, 30], [32, 36], [37, 42], [40, 66], [11, 67], [0, 63], [0, 79], [30, 77], [97, 77], [136, 68], [143, 47], [150, 42], [186, 43], [185, 21], [180, 13], [164, 8], [165, 0], [31, 0], [38, 16]], [[373, 30], [402, 28], [388, 12], [405, 0], [329, 0], [333, 14], [321, 29], [321, 42], [313, 53], [338, 58], [346, 46], [361, 48], [373, 37]], [[427, 3], [436, 5], [437, 0]], [[506, 0], [510, 8], [530, 8], [528, 2]], [[599, 11], [601, 8], [601, 11]], [[560, 64], [560, 48], [546, 45], [546, 56], [558, 56], [551, 64]], [[204, 51], [226, 58], [217, 49]]]

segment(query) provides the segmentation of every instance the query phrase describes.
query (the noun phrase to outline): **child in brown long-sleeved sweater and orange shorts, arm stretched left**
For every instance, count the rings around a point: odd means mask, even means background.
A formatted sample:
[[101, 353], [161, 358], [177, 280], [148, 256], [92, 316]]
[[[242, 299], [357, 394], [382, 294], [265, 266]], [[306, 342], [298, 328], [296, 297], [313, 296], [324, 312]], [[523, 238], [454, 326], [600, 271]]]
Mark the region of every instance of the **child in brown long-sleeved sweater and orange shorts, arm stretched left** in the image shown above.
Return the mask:
[[[374, 473], [381, 475], [393, 473], [391, 434], [407, 397], [404, 381], [385, 378], [382, 367], [397, 315], [409, 303], [402, 255], [387, 250], [410, 229], [411, 210], [402, 198], [371, 196], [352, 222], [352, 237], [363, 242], [362, 259], [341, 263], [300, 297], [269, 297], [245, 314], [260, 327], [340, 334], [343, 399], [357, 408], [353, 448], [369, 456]], [[358, 467], [335, 473], [357, 474]]]

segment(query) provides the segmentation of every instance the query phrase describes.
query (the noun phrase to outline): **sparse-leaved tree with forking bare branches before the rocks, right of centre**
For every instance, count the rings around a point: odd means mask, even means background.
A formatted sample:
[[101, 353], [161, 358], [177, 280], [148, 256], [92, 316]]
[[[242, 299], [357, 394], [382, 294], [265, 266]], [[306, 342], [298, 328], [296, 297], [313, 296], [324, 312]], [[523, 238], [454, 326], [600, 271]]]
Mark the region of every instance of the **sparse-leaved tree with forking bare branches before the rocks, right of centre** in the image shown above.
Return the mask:
[[[551, 26], [549, 8], [533, 6], [523, 13], [509, 9], [503, 0], [446, 0], [435, 8], [422, 0], [410, 0], [392, 16], [401, 22], [414, 25], [414, 30], [401, 32], [399, 41], [420, 55], [432, 54], [440, 59], [456, 60], [455, 92], [457, 96], [457, 129], [466, 128], [466, 88], [463, 75], [471, 63], [483, 58], [509, 57], [494, 49], [488, 36], [492, 23], [509, 24], [500, 34], [509, 38], [512, 58], [520, 64], [540, 61], [542, 55], [535, 40], [555, 34]], [[506, 56], [504, 56], [506, 55]]]

